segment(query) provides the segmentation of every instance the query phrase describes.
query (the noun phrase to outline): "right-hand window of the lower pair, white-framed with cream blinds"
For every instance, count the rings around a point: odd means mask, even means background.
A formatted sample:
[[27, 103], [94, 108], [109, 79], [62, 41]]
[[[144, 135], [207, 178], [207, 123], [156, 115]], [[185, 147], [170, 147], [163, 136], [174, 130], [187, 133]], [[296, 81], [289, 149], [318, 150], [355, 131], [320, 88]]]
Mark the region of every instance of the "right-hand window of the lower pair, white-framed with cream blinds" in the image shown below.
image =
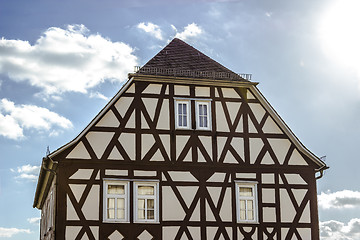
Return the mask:
[[135, 222], [158, 222], [158, 183], [135, 182]]

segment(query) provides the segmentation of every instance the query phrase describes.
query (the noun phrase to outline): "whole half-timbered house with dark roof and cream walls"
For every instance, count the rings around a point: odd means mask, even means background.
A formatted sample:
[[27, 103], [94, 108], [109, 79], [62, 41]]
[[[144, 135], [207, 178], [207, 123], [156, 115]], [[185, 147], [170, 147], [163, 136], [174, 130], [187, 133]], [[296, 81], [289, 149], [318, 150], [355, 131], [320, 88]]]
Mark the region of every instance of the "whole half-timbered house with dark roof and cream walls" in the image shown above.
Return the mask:
[[326, 165], [252, 82], [174, 39], [42, 161], [41, 239], [319, 239]]

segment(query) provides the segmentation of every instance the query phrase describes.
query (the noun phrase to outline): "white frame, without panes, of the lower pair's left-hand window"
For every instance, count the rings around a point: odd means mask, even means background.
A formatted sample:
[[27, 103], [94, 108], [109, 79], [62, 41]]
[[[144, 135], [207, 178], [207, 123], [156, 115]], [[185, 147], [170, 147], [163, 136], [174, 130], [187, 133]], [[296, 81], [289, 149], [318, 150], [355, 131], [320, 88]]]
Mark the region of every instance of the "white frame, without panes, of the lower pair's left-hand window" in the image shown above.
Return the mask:
[[[125, 193], [123, 195], [118, 194], [108, 194], [108, 185], [122, 185], [124, 186]], [[104, 180], [104, 188], [103, 188], [103, 221], [104, 222], [129, 222], [129, 181], [123, 180]], [[124, 219], [117, 219], [117, 201], [115, 201], [115, 218], [108, 218], [107, 217], [107, 208], [108, 208], [108, 198], [124, 198], [125, 200], [125, 218]]]

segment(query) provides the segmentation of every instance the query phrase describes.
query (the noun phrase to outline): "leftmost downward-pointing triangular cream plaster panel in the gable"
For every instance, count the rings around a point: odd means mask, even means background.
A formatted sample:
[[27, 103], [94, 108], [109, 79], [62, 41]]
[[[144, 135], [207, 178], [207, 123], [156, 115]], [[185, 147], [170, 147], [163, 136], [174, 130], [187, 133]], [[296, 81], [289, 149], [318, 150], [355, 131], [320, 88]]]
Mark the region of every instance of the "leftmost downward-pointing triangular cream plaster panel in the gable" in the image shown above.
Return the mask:
[[86, 134], [86, 139], [89, 141], [98, 159], [104, 154], [114, 134], [112, 132], [89, 132]]

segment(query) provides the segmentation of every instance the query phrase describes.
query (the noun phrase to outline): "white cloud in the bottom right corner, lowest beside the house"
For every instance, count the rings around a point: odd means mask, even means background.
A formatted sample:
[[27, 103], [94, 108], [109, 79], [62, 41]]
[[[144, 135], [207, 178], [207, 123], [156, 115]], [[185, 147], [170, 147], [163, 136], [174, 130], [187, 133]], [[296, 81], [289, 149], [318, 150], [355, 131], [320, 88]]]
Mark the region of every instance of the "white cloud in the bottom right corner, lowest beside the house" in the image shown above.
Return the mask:
[[320, 222], [322, 240], [354, 240], [360, 239], [360, 219], [351, 219], [347, 224], [330, 220]]

